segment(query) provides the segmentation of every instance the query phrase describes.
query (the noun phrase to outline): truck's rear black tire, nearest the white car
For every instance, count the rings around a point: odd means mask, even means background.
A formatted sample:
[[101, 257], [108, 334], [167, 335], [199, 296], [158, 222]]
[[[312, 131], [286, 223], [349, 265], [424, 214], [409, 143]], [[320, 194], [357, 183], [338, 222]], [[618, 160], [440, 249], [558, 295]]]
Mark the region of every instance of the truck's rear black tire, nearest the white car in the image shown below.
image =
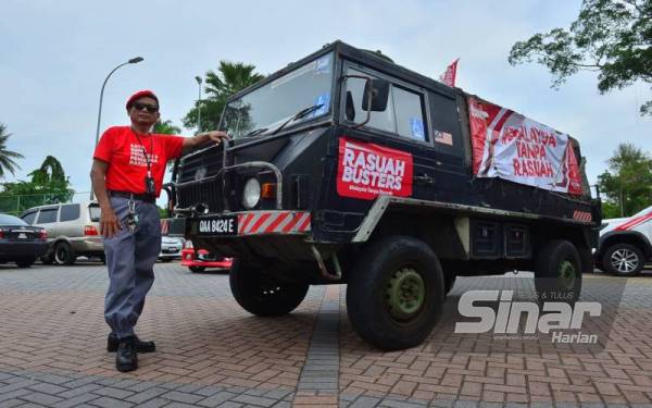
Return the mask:
[[535, 287], [540, 302], [575, 304], [581, 293], [581, 261], [573, 244], [564, 239], [549, 240], [538, 252]]

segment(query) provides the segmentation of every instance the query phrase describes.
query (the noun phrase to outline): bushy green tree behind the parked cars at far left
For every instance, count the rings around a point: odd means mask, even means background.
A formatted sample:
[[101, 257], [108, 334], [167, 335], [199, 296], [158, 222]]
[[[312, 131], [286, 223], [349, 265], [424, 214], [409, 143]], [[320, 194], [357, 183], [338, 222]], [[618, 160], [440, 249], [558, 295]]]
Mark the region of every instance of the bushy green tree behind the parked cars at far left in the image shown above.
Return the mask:
[[75, 194], [70, 188], [63, 166], [52, 156], [48, 156], [28, 176], [28, 182], [4, 183], [0, 193], [0, 211], [21, 213], [36, 206], [67, 202]]

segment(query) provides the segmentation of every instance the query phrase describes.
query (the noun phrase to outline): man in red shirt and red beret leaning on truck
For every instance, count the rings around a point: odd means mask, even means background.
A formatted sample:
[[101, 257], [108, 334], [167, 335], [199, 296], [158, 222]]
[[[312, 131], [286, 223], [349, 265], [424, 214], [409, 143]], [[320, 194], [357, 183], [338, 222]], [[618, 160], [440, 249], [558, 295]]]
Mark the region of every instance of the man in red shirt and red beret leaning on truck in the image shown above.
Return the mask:
[[90, 177], [101, 208], [100, 228], [109, 269], [104, 319], [111, 333], [108, 349], [117, 351], [118, 371], [138, 368], [137, 353], [155, 350], [134, 326], [154, 282], [153, 265], [161, 250], [161, 225], [155, 199], [161, 194], [168, 160], [192, 148], [221, 144], [224, 132], [193, 137], [156, 135], [159, 98], [141, 90], [127, 100], [130, 126], [114, 126], [102, 135], [93, 153]]

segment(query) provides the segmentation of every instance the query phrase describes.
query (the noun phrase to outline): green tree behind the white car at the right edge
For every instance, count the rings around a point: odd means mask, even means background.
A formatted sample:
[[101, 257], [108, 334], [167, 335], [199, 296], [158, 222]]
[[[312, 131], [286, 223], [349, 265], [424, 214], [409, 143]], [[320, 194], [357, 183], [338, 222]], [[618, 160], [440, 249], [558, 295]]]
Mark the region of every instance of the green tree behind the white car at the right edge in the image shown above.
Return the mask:
[[631, 215], [652, 203], [652, 159], [629, 144], [618, 145], [609, 171], [598, 176], [604, 218]]

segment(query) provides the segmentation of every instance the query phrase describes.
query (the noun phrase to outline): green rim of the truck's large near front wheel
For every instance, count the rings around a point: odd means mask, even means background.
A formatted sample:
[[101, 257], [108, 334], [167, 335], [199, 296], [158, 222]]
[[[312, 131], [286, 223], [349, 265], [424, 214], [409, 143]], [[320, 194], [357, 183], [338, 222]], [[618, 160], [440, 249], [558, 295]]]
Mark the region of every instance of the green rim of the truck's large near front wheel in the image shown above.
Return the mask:
[[397, 271], [387, 287], [387, 305], [392, 318], [401, 321], [416, 316], [426, 300], [426, 283], [412, 268]]

